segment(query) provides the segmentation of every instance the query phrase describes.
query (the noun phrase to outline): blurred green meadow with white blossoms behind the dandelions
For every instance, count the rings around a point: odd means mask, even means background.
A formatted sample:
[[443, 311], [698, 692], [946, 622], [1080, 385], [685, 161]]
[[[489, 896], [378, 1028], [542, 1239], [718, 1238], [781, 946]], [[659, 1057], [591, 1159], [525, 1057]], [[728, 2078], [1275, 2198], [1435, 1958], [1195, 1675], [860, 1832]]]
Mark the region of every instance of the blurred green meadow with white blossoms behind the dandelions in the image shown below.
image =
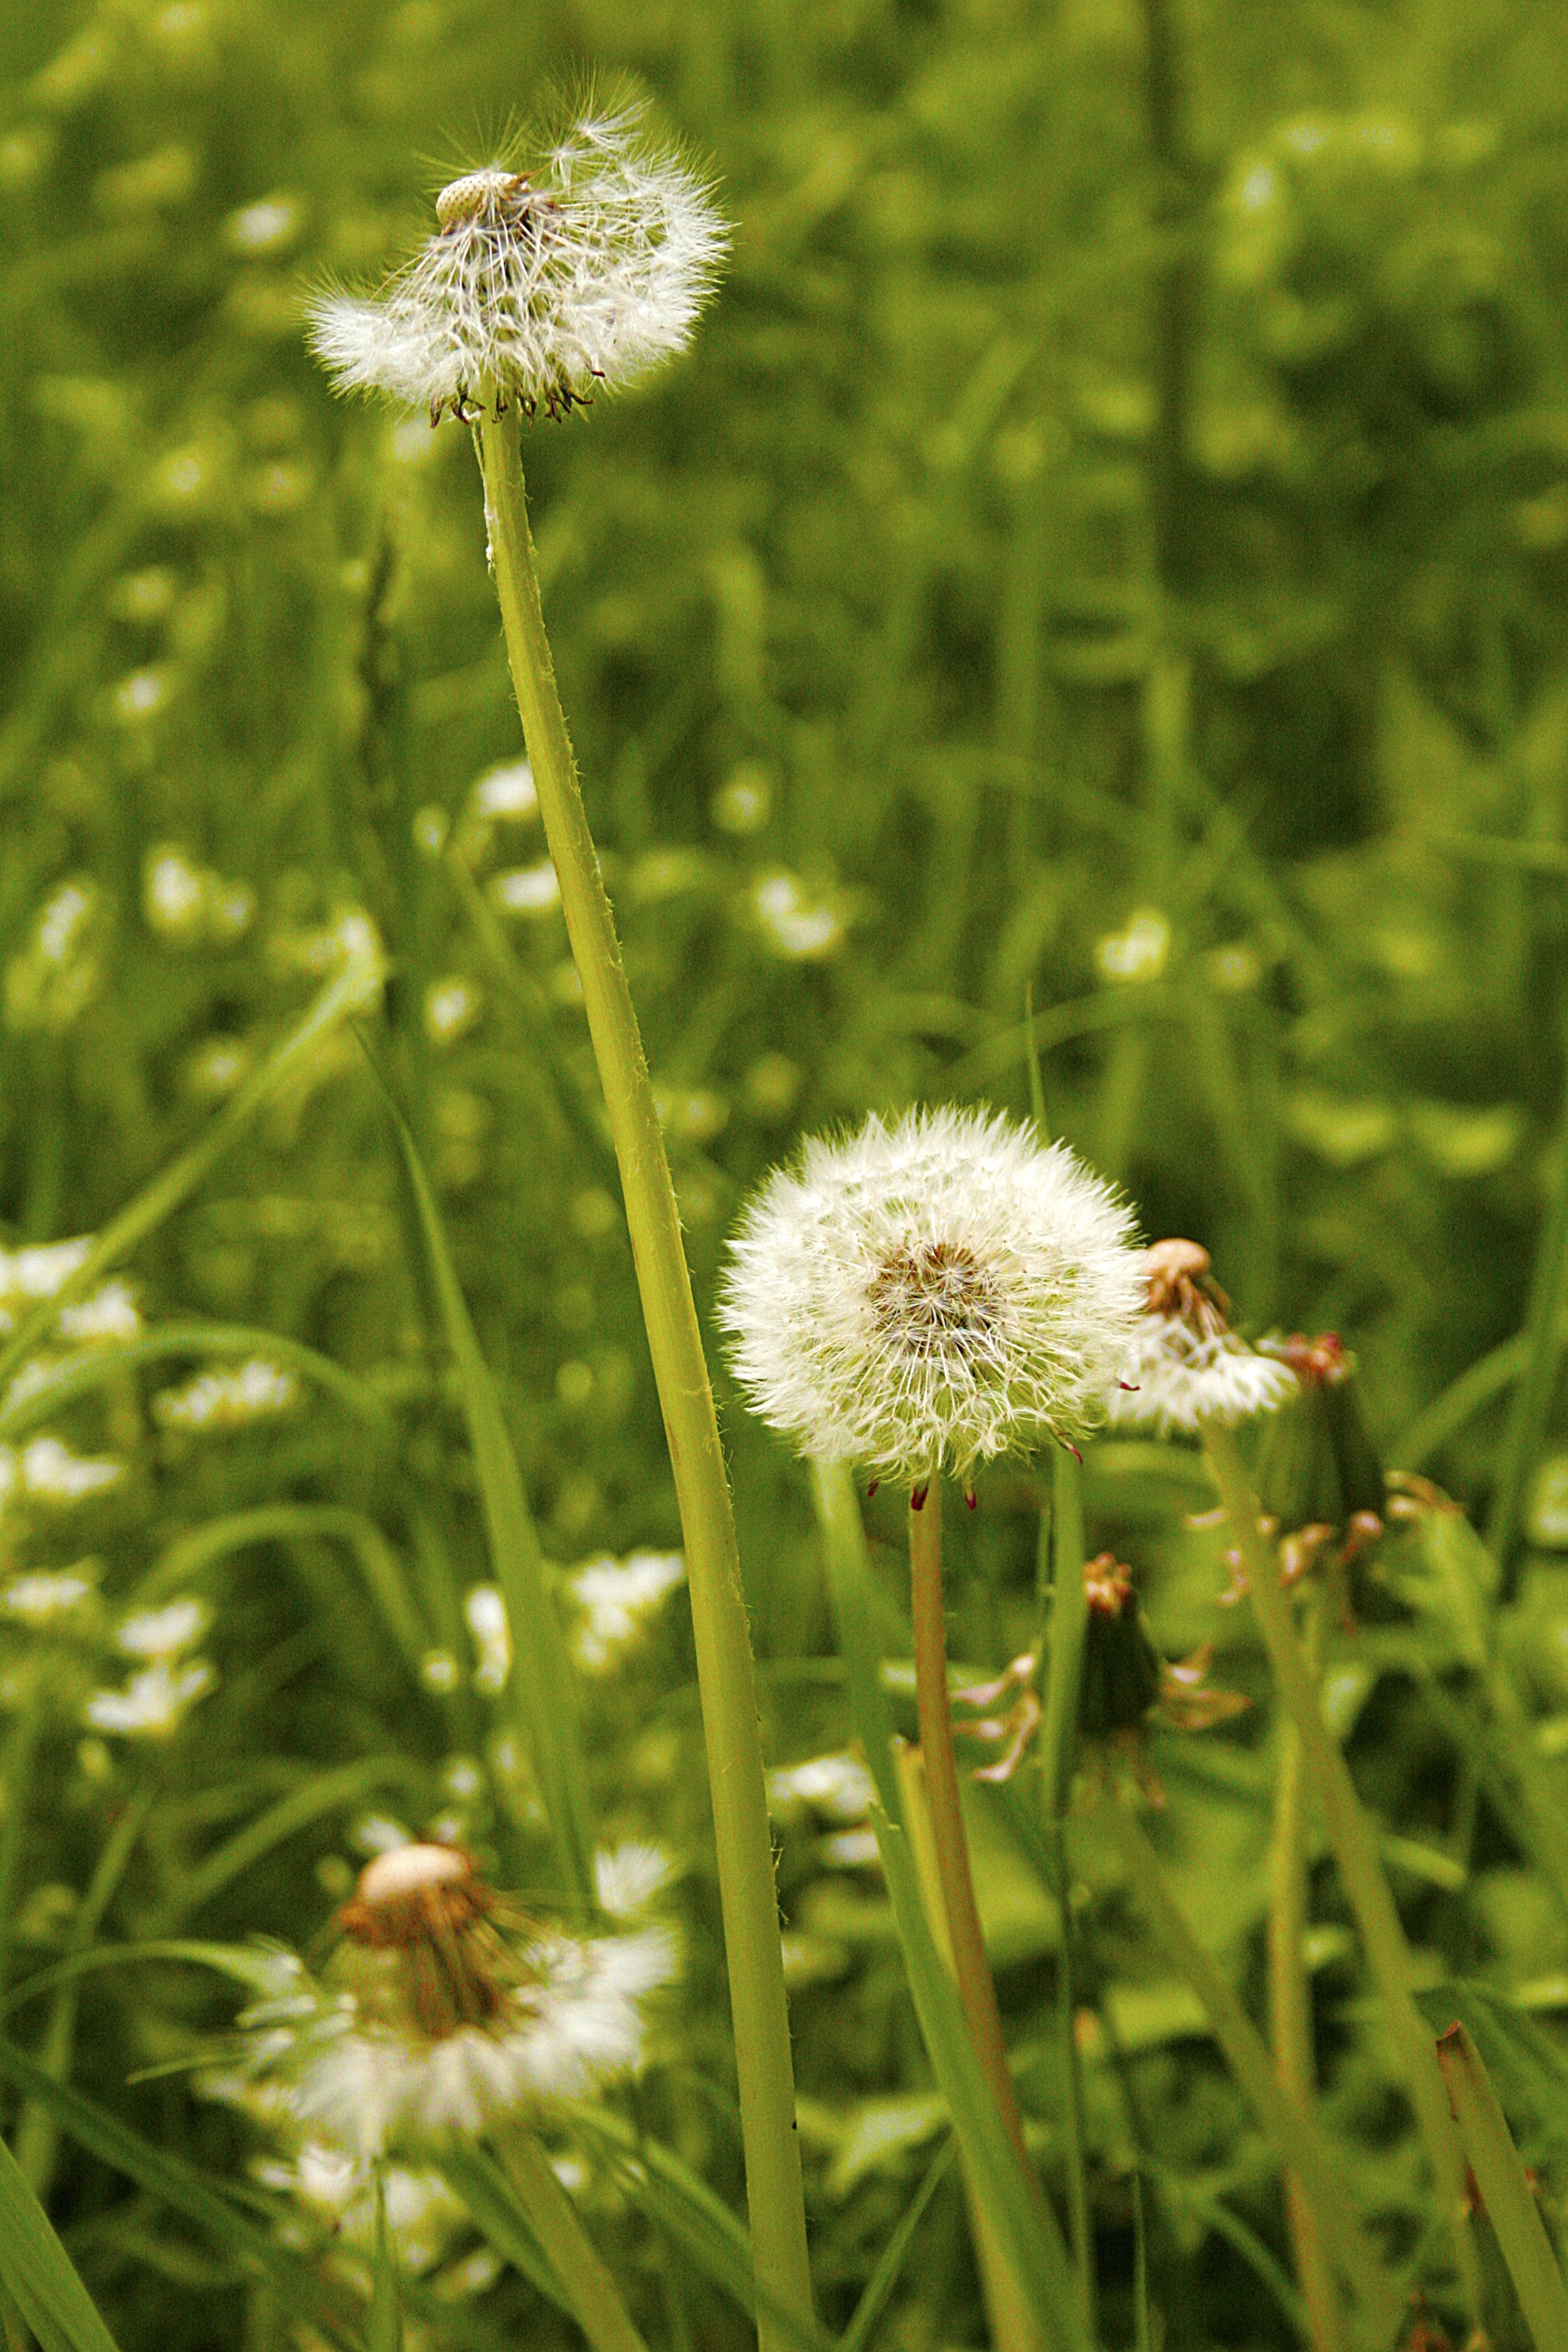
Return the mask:
[[[212, 1134], [369, 922], [390, 976], [367, 1042], [578, 1646], [583, 1562], [677, 1550], [543, 842], [475, 795], [520, 729], [473, 447], [334, 402], [301, 336], [301, 289], [397, 261], [433, 188], [545, 85], [632, 75], [712, 162], [731, 263], [686, 360], [534, 428], [524, 461], [703, 1312], [726, 1225], [799, 1131], [910, 1101], [1027, 1112], [1032, 1000], [1048, 1120], [1145, 1232], [1206, 1242], [1248, 1331], [1342, 1331], [1389, 1461], [1493, 1515], [1486, 1653], [1514, 1661], [1554, 1776], [1561, 7], [113, 0], [12, 9], [0, 42], [5, 1247], [101, 1230]], [[12, 1990], [96, 1943], [308, 1945], [388, 1825], [458, 1837], [508, 1884], [545, 1870], [463, 1618], [491, 1566], [383, 1080], [339, 1025], [148, 1223], [127, 1265], [143, 1324], [223, 1327], [228, 1357], [172, 1338], [47, 1414], [26, 1383], [0, 1404], [7, 1569], [92, 1557], [108, 1616], [200, 1592], [214, 1668], [167, 1738], [85, 1736], [89, 1693], [125, 1677], [103, 1630], [0, 1628]], [[252, 1357], [296, 1383], [275, 1411], [226, 1428], [160, 1404]], [[799, 1468], [722, 1371], [719, 1392], [788, 1766], [846, 1740], [818, 1543]], [[28, 1491], [40, 1430], [125, 1472], [78, 1501]], [[1215, 1635], [1220, 1679], [1262, 1691], [1251, 1625], [1213, 1609], [1213, 1538], [1180, 1526], [1204, 1498], [1187, 1456], [1105, 1444], [1091, 1548], [1133, 1562], [1166, 1651]], [[980, 1482], [954, 1531], [957, 1658], [1030, 1644], [1034, 1515], [1027, 1465]], [[900, 1498], [867, 1512], [893, 1656], [898, 1519]], [[1490, 2056], [1552, 2216], [1568, 1926], [1476, 1795], [1483, 1658], [1460, 1616], [1420, 1621], [1415, 1665], [1394, 1635], [1347, 1651], [1338, 1726], [1401, 1842], [1436, 2004], [1458, 1980], [1530, 1994], [1533, 2056]], [[656, 1835], [682, 1863], [684, 1987], [632, 2107], [738, 2209], [679, 1592], [588, 1656], [583, 1705], [602, 1837]], [[1175, 1884], [1255, 1987], [1267, 1722], [1166, 1748]], [[1006, 1809], [976, 1818], [1027, 2044], [1058, 1922]], [[875, 1870], [809, 1795], [780, 1792], [778, 1830], [820, 2310], [842, 2326], [943, 2114]], [[1267, 2152], [1114, 1870], [1091, 1851], [1084, 1870], [1105, 2340], [1138, 2324], [1143, 2183], [1164, 2338], [1284, 2345]], [[1345, 2164], [1410, 2251], [1413, 2143], [1328, 1875], [1319, 1940]], [[179, 2072], [233, 2006], [190, 1966], [127, 1962], [7, 2013], [5, 2049], [92, 2103], [73, 2129], [7, 2074], [14, 2145], [127, 2352], [299, 2343], [299, 2279], [343, 2260], [256, 2183], [261, 2136]], [[1044, 2030], [1025, 2091], [1048, 2169]], [[588, 2171], [583, 2199], [656, 2343], [745, 2340], [625, 2183]], [[299, 2274], [259, 2251], [284, 2244]], [[574, 2340], [461, 2218], [416, 2324], [440, 2345]], [[898, 2352], [978, 2340], [957, 2171], [877, 2326]]]

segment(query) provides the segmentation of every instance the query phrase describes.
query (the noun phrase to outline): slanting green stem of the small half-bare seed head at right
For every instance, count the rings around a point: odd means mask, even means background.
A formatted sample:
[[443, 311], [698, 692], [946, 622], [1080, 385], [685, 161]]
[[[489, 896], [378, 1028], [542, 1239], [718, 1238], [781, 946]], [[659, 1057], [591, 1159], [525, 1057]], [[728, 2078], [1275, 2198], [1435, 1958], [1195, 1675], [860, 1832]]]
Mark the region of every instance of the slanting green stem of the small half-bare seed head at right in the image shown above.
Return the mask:
[[1366, 1957], [1378, 1980], [1378, 1990], [1382, 1992], [1382, 2006], [1394, 2046], [1403, 2063], [1415, 2122], [1422, 2140], [1427, 2143], [1432, 2185], [1453, 2246], [1460, 2291], [1472, 2324], [1479, 2326], [1481, 2260], [1465, 2218], [1465, 2157], [1453, 2129], [1453, 2114], [1448, 2112], [1448, 2093], [1443, 2089], [1443, 2077], [1439, 2074], [1432, 2027], [1415, 2006], [1410, 1945], [1406, 1943], [1406, 1931], [1399, 1919], [1399, 1910], [1394, 1907], [1389, 1882], [1382, 1875], [1378, 1839], [1373, 1835], [1373, 1825], [1361, 1811], [1356, 1785], [1349, 1778], [1349, 1764], [1340, 1755], [1340, 1745], [1324, 1722], [1324, 1710], [1319, 1705], [1312, 1675], [1307, 1672], [1307, 1661], [1302, 1658], [1300, 1642], [1295, 1639], [1291, 1602], [1286, 1599], [1286, 1590], [1279, 1581], [1274, 1550], [1265, 1543], [1258, 1529], [1258, 1501], [1248, 1484], [1237, 1437], [1232, 1430], [1220, 1428], [1220, 1423], [1208, 1423], [1204, 1430], [1204, 1446], [1208, 1451], [1215, 1486], [1220, 1489], [1220, 1501], [1225, 1503], [1229, 1534], [1241, 1550], [1253, 1611], [1258, 1616], [1262, 1644], [1269, 1653], [1269, 1665], [1274, 1668], [1274, 1689], [1279, 1691], [1279, 1703], [1291, 1717], [1302, 1743], [1307, 1773], [1316, 1788], [1319, 1804], [1324, 1806], [1328, 1839], [1333, 1844], [1335, 1863], [1340, 1865], [1340, 1882], [1349, 1898], [1349, 1907], [1356, 1915], [1356, 1926], [1361, 1929], [1361, 1940], [1366, 1943]]

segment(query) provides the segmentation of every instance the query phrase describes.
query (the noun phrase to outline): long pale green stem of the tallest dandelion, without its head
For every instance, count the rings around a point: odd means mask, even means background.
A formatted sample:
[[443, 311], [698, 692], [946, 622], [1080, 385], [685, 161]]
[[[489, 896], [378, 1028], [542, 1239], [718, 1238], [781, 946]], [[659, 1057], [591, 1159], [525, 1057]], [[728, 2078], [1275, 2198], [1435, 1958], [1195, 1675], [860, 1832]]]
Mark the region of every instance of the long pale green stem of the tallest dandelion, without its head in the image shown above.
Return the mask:
[[[771, 2288], [785, 2310], [809, 2317], [806, 2206], [795, 2133], [795, 2072], [773, 1842], [762, 1778], [757, 1677], [719, 1425], [654, 1087], [555, 687], [515, 421], [484, 414], [477, 437], [512, 687], [621, 1164], [625, 1223], [686, 1538], [752, 2258], [759, 2284]], [[757, 2333], [764, 2352], [773, 2347], [783, 2352], [788, 2338], [771, 2319], [759, 2319]]]

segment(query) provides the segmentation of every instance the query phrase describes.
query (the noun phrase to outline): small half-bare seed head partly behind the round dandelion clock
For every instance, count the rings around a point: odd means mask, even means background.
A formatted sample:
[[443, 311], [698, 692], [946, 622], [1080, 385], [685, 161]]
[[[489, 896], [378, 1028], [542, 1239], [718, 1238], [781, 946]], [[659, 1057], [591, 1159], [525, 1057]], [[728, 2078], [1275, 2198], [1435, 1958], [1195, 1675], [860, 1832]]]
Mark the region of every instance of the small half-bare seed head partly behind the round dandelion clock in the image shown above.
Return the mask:
[[1229, 1303], [1199, 1242], [1157, 1242], [1143, 1265], [1147, 1312], [1105, 1397], [1117, 1428], [1154, 1430], [1157, 1437], [1194, 1435], [1206, 1421], [1234, 1428], [1295, 1395], [1295, 1374], [1255, 1355], [1229, 1329]]

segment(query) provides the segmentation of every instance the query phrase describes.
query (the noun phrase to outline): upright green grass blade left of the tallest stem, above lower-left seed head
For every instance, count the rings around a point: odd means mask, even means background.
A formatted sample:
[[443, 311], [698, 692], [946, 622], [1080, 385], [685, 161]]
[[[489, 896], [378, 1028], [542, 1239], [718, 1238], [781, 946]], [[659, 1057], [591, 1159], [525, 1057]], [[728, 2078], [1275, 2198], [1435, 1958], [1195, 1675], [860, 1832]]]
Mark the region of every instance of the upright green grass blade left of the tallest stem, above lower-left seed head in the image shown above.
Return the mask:
[[501, 1411], [501, 1397], [489, 1364], [480, 1352], [414, 1136], [390, 1096], [388, 1115], [397, 1131], [409, 1188], [418, 1209], [447, 1345], [458, 1369], [463, 1418], [468, 1421], [468, 1442], [480, 1479], [491, 1564], [512, 1625], [512, 1672], [508, 1689], [515, 1693], [517, 1726], [534, 1755], [562, 1882], [581, 1903], [592, 1907], [592, 1809], [578, 1738], [576, 1677], [567, 1639], [545, 1581], [545, 1559], [538, 1550], [534, 1517], [522, 1491], [522, 1472]]

